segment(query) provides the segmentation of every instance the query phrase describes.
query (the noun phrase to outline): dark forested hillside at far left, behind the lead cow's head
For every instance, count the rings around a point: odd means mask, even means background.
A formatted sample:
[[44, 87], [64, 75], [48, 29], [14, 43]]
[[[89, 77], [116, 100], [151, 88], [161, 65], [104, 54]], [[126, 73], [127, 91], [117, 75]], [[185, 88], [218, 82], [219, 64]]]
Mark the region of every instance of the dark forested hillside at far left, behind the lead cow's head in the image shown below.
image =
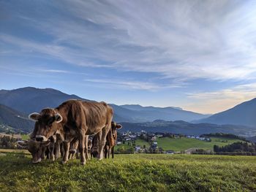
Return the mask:
[[[24, 131], [29, 132], [34, 128], [34, 122], [29, 120], [25, 114], [22, 112], [18, 112], [13, 110], [10, 107], [4, 106], [0, 104], [0, 124], [4, 124], [5, 126], [10, 126], [13, 131]], [[4, 127], [4, 126], [1, 126]], [[1, 129], [1, 131], [7, 131]]]

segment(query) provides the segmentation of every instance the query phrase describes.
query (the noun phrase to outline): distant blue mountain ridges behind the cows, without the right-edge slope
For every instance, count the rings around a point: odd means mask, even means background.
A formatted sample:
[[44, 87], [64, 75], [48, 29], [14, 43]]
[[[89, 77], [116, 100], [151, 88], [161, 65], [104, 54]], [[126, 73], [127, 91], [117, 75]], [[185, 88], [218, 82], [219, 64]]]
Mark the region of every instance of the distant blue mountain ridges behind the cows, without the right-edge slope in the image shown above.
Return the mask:
[[[39, 112], [45, 107], [58, 107], [68, 99], [88, 99], [80, 98], [76, 95], [69, 95], [52, 88], [18, 88], [15, 90], [1, 90], [0, 104], [11, 107], [14, 110], [29, 114]], [[177, 107], [142, 107], [140, 105], [122, 105], [110, 104], [115, 112], [114, 120], [127, 122], [146, 122], [161, 118], [163, 120], [198, 120], [206, 118], [208, 115], [202, 115], [196, 112], [189, 112]]]

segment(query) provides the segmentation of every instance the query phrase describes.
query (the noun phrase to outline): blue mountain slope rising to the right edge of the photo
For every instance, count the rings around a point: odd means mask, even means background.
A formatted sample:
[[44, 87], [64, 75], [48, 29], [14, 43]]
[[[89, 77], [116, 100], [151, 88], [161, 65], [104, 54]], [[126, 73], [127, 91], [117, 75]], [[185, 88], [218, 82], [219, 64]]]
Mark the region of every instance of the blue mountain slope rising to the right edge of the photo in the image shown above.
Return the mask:
[[245, 101], [236, 107], [211, 115], [202, 120], [195, 120], [195, 123], [234, 124], [256, 127], [256, 99]]

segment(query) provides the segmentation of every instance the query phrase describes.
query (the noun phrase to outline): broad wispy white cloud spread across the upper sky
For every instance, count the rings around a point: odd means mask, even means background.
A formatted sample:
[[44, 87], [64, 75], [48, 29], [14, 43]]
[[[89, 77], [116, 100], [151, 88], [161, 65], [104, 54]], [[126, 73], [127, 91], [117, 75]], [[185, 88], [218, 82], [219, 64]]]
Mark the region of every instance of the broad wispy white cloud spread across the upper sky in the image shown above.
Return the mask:
[[255, 78], [255, 1], [55, 3], [72, 18], [19, 16], [53, 42], [5, 40], [81, 66], [157, 72], [180, 81]]

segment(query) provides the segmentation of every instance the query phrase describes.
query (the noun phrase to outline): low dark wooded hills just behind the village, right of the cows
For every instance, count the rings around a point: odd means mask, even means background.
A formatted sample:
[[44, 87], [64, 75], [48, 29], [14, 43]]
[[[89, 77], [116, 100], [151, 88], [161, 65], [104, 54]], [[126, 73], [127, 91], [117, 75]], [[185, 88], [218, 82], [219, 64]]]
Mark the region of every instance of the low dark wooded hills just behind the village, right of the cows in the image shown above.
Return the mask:
[[210, 133], [229, 133], [236, 134], [243, 137], [254, 136], [256, 129], [247, 126], [236, 125], [216, 125], [211, 123], [188, 123], [182, 120], [165, 121], [154, 120], [154, 122], [147, 123], [121, 123], [123, 128], [121, 132], [132, 131], [138, 132], [141, 130], [147, 132], [162, 132], [173, 134], [189, 134], [200, 135]]

